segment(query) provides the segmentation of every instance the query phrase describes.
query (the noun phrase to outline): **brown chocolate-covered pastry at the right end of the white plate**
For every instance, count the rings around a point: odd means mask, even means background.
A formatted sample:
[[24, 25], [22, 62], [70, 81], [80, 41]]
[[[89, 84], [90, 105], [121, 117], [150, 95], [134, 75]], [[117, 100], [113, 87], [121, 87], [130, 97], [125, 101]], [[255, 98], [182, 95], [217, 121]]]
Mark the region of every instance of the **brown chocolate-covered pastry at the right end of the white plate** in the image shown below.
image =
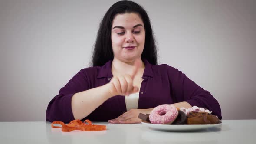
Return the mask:
[[187, 115], [187, 124], [218, 124], [220, 120], [207, 112], [190, 112]]

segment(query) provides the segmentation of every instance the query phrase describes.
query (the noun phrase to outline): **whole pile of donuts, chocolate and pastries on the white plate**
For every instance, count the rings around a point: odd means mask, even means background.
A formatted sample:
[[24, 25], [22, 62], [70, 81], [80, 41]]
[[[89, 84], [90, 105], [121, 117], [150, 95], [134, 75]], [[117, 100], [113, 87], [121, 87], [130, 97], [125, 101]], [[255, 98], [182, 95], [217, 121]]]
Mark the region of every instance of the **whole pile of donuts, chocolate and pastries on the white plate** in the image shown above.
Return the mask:
[[138, 118], [151, 124], [218, 124], [220, 120], [205, 108], [176, 108], [174, 105], [159, 105], [150, 114], [140, 113]]

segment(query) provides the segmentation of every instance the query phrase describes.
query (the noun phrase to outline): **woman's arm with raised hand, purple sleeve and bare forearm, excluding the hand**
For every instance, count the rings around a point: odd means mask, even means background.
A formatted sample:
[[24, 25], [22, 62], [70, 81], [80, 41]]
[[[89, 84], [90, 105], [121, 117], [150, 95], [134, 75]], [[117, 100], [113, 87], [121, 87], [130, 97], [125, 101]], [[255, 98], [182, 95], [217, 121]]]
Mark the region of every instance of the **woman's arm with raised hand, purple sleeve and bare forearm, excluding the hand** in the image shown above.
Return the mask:
[[87, 72], [95, 73], [95, 70], [82, 69], [60, 89], [59, 95], [48, 105], [46, 121], [69, 123], [74, 119], [85, 118], [113, 96], [108, 92], [108, 84], [91, 88], [92, 80], [87, 76]]

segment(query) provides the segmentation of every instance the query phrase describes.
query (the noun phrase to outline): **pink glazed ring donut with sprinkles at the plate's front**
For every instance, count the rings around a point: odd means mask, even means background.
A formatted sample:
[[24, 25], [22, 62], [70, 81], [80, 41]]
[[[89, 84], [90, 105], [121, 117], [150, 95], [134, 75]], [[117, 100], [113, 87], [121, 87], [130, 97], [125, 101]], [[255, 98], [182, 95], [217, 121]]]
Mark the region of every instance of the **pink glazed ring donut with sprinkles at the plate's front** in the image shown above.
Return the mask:
[[158, 105], [151, 111], [149, 121], [152, 124], [171, 124], [178, 114], [179, 112], [174, 105]]

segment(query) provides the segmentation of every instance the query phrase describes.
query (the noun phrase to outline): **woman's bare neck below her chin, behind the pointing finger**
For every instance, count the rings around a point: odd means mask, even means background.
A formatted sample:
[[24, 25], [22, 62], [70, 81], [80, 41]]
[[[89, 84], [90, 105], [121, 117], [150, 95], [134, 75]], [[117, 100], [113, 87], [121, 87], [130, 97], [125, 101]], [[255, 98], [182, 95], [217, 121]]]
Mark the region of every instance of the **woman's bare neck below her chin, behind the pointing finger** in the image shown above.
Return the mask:
[[[113, 75], [131, 75], [132, 70], [135, 68], [135, 61], [139, 61], [141, 63], [141, 66], [138, 71], [144, 72], [145, 65], [141, 58], [132, 60], [130, 62], [123, 62], [118, 59], [113, 59], [112, 61], [112, 74]], [[143, 74], [143, 73], [142, 73]]]

